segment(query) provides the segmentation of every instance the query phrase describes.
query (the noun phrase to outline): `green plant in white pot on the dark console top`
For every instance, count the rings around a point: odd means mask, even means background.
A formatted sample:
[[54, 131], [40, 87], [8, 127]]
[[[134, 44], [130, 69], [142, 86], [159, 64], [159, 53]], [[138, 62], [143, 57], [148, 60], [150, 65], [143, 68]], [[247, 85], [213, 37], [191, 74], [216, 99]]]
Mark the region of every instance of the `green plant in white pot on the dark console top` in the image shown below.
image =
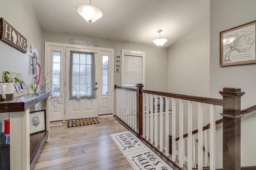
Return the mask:
[[14, 99], [14, 82], [20, 83], [17, 77], [11, 78], [8, 76], [10, 72], [4, 71], [2, 75], [3, 82], [0, 82], [0, 101], [7, 101]]

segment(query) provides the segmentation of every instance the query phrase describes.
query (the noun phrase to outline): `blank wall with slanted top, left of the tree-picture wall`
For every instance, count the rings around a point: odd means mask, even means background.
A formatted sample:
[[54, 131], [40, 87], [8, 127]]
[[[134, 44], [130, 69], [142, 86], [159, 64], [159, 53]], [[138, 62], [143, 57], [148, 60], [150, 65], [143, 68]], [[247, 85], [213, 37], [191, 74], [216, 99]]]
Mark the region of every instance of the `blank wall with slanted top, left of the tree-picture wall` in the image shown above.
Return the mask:
[[168, 49], [168, 91], [208, 97], [210, 92], [210, 21]]

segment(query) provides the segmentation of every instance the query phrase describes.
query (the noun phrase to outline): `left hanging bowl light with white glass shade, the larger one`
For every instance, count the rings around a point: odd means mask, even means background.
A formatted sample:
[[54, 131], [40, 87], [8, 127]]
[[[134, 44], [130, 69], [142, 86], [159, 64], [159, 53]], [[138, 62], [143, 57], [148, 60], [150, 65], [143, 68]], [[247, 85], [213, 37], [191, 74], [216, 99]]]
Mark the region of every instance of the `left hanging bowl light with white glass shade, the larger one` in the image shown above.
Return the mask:
[[84, 18], [87, 22], [95, 22], [96, 20], [100, 19], [102, 17], [102, 12], [99, 8], [96, 8], [95, 6], [91, 6], [91, 0], [90, 5], [84, 5], [80, 6], [77, 9], [78, 14]]

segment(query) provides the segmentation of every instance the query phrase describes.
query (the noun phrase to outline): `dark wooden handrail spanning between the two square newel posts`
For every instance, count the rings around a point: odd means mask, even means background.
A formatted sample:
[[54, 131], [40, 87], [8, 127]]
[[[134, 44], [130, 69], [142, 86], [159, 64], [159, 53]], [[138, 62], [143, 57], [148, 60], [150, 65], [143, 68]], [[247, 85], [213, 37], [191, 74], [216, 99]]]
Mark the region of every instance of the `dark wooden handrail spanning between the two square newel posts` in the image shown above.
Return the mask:
[[223, 100], [217, 99], [217, 98], [206, 98], [206, 97], [199, 97], [199, 96], [188, 96], [183, 94], [174, 94], [174, 93], [166, 93], [166, 92], [157, 92], [157, 91], [151, 91], [151, 90], [141, 90], [142, 93], [148, 93], [148, 94], [155, 94], [159, 96], [166, 96], [170, 98], [178, 98], [183, 100], [190, 100], [194, 102], [201, 102], [206, 104], [213, 104], [218, 106], [223, 106]]

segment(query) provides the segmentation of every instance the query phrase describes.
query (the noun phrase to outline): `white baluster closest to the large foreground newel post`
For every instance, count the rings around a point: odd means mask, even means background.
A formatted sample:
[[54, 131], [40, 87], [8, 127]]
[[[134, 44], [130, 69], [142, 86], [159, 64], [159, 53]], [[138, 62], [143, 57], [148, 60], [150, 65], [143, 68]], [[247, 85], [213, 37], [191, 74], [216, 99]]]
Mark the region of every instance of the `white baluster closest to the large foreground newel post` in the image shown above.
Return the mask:
[[215, 170], [215, 106], [210, 104], [210, 170]]

